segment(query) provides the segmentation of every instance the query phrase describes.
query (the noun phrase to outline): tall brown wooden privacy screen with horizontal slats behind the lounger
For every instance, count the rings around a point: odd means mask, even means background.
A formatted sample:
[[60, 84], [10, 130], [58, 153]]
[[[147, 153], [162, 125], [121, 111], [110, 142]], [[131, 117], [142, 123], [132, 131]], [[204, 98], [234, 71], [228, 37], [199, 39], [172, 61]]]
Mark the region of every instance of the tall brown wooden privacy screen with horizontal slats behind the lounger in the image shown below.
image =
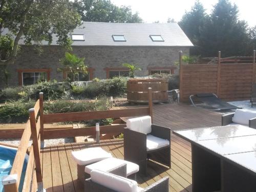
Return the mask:
[[189, 95], [219, 93], [224, 100], [245, 100], [251, 97], [255, 79], [253, 63], [222, 63], [218, 90], [218, 65], [198, 64], [181, 66], [180, 101], [187, 102]]

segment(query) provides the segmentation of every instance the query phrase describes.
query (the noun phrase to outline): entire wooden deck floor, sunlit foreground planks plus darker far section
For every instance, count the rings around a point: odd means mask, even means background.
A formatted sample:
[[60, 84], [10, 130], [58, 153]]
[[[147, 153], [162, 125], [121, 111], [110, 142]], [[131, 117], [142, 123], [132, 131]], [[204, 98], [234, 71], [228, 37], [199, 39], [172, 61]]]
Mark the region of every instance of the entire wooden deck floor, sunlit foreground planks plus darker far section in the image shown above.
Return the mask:
[[[134, 106], [133, 106], [134, 107]], [[217, 126], [221, 124], [221, 115], [209, 110], [195, 108], [186, 104], [154, 105], [154, 123], [172, 127], [172, 130], [196, 127]], [[187, 141], [173, 135], [171, 142], [172, 168], [168, 169], [148, 161], [148, 176], [139, 175], [139, 186], [146, 187], [168, 176], [170, 191], [191, 191], [191, 146]], [[103, 140], [94, 142], [69, 143], [50, 146], [41, 150], [42, 175], [47, 191], [83, 191], [77, 180], [76, 163], [71, 152], [84, 147], [101, 146], [116, 158], [123, 159], [123, 140]]]

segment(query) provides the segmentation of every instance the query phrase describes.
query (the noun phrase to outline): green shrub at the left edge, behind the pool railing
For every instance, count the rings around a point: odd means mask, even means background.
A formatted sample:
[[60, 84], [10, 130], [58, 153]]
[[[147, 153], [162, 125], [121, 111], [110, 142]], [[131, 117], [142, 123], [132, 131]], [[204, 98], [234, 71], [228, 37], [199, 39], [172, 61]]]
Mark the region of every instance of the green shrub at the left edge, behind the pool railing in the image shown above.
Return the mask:
[[20, 99], [17, 101], [9, 101], [0, 107], [0, 122], [26, 122], [29, 117], [28, 110], [33, 108], [35, 101], [25, 102]]

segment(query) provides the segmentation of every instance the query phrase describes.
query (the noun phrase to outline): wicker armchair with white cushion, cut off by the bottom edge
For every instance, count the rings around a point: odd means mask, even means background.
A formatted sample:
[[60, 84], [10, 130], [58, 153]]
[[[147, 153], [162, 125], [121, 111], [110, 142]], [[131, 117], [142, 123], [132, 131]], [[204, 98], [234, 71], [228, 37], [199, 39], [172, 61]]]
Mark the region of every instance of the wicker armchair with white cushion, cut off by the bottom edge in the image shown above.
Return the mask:
[[[119, 167], [119, 170], [120, 169], [122, 169], [122, 167]], [[138, 192], [139, 191], [140, 192], [142, 192], [142, 191], [148, 191], [148, 192], [149, 191], [150, 192], [167, 192], [167, 191], [169, 191], [169, 177], [162, 178], [161, 180], [159, 180], [159, 181], [155, 182], [154, 184], [143, 189], [143, 188], [138, 187], [136, 181], [126, 179], [125, 177], [116, 176], [111, 173], [104, 173], [100, 170], [93, 170], [93, 171], [98, 172], [97, 173], [98, 175], [95, 177], [99, 177], [99, 174], [102, 174], [102, 175], [100, 175], [100, 177], [101, 177], [100, 179], [97, 180], [97, 178], [96, 178], [96, 181], [94, 181], [94, 178], [93, 178], [94, 174], [91, 173], [92, 178], [86, 179], [84, 181], [84, 191], [86, 191], [86, 192], [118, 192], [118, 189], [120, 189], [120, 188], [123, 189], [124, 186], [121, 183], [118, 183], [119, 186], [114, 186], [113, 182], [115, 182], [115, 179], [120, 180], [120, 178], [124, 181], [127, 181], [127, 182], [131, 181], [133, 183], [132, 184], [133, 189], [131, 188], [131, 191], [135, 191], [134, 187], [135, 187], [136, 191], [138, 191]], [[108, 177], [108, 175], [111, 177], [111, 179]], [[104, 178], [104, 176], [106, 176], [106, 178]], [[104, 182], [103, 180], [106, 180], [106, 181]], [[110, 183], [109, 181], [112, 181], [112, 183]], [[129, 187], [127, 187], [127, 185], [125, 187], [126, 187], [125, 191], [130, 191]]]

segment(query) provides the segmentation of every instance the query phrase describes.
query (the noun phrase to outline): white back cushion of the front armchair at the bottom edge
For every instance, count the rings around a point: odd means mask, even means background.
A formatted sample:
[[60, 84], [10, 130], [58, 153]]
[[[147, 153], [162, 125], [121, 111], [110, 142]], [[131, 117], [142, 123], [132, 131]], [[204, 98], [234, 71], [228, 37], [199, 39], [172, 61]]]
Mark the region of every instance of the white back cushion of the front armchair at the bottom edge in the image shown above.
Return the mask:
[[102, 170], [92, 170], [91, 179], [95, 183], [119, 192], [137, 192], [138, 189], [136, 181], [103, 172]]

